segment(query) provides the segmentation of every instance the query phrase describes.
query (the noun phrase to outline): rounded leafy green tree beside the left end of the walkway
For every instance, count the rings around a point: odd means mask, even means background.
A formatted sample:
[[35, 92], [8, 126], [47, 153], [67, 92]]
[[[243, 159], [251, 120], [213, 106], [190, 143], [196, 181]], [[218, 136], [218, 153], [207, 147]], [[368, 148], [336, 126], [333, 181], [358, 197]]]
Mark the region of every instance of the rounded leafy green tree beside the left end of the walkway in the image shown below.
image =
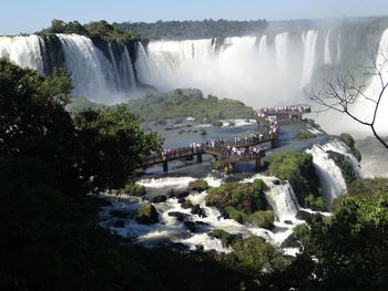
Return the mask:
[[83, 146], [82, 173], [93, 191], [122, 188], [134, 175], [141, 158], [161, 150], [161, 137], [145, 134], [140, 118], [126, 105], [95, 108], [76, 113], [74, 123]]

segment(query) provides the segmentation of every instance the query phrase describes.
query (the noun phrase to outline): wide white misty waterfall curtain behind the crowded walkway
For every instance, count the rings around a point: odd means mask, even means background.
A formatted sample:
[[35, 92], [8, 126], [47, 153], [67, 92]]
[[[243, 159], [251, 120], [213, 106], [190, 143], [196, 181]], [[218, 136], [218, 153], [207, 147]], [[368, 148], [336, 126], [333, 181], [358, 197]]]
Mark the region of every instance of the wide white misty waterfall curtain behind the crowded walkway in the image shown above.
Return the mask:
[[316, 31], [307, 32], [305, 45], [302, 34], [295, 45], [287, 32], [272, 41], [268, 35], [226, 38], [216, 45], [218, 41], [151, 41], [147, 53], [140, 45], [136, 70], [141, 82], [164, 91], [197, 87], [257, 107], [300, 96], [302, 80], [304, 85], [310, 81]]

